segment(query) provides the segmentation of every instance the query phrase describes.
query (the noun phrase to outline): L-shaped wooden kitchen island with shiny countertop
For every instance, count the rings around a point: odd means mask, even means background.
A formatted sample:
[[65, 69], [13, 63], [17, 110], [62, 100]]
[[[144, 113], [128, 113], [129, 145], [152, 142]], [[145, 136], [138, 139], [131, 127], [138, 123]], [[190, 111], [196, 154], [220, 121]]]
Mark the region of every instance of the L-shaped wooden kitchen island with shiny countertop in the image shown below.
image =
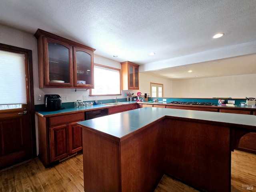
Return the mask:
[[139, 108], [78, 122], [84, 190], [154, 191], [163, 174], [204, 191], [230, 191], [231, 151], [256, 116]]

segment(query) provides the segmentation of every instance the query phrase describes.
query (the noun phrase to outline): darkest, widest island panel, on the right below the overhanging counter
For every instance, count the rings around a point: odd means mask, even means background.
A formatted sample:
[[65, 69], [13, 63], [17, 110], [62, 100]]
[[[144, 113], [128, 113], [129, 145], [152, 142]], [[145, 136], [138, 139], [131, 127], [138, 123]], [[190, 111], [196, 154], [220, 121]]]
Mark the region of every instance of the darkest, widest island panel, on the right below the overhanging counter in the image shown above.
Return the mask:
[[230, 191], [230, 128], [170, 117], [164, 121], [165, 172], [199, 190]]

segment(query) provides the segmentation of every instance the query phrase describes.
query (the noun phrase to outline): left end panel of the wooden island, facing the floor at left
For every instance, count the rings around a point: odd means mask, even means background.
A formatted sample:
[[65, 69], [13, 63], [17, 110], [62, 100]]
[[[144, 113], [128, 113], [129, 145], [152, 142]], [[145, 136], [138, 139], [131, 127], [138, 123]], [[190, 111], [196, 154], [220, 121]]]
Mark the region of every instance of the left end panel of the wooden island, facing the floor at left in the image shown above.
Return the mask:
[[120, 192], [119, 142], [82, 128], [85, 192]]

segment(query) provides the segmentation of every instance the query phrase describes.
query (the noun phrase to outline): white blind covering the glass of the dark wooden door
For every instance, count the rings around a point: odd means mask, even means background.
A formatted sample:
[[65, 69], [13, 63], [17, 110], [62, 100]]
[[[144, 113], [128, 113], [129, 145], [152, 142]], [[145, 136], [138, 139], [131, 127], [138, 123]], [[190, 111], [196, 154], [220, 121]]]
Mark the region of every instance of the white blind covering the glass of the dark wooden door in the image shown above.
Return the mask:
[[0, 50], [0, 105], [27, 104], [24, 55]]

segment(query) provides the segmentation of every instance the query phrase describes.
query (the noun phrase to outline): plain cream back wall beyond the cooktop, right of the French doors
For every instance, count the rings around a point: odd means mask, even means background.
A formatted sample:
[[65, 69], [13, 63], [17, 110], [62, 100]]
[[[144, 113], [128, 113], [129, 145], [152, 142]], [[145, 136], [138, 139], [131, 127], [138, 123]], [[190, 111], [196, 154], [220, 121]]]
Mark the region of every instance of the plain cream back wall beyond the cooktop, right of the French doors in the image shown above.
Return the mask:
[[174, 98], [256, 97], [256, 74], [174, 80]]

